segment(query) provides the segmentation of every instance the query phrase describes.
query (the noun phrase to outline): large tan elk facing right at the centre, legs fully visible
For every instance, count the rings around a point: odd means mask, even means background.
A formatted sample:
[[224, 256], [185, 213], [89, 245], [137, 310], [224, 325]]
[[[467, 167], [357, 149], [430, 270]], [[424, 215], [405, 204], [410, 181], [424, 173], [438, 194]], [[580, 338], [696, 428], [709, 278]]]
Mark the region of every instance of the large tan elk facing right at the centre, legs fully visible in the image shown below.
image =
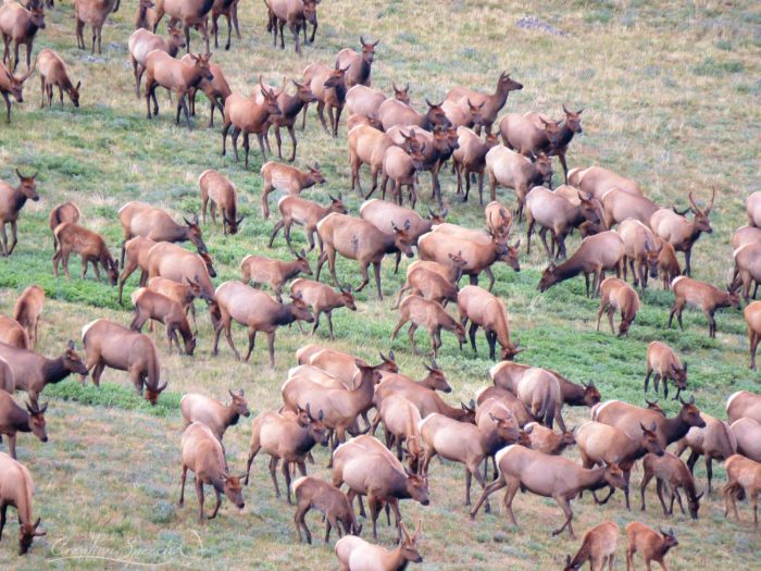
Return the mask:
[[391, 235], [380, 232], [372, 222], [366, 220], [333, 213], [320, 221], [317, 234], [323, 243], [324, 251], [320, 255], [320, 260], [317, 261], [316, 280], [320, 280], [320, 271], [327, 261], [333, 283], [338, 287], [336, 253], [340, 253], [345, 258], [359, 262], [362, 283], [355, 291], [361, 291], [370, 283], [367, 268], [372, 263], [378, 299], [383, 299], [380, 263], [384, 257], [387, 253], [397, 251], [401, 251], [408, 258], [413, 256], [412, 238], [406, 227], [395, 227]]

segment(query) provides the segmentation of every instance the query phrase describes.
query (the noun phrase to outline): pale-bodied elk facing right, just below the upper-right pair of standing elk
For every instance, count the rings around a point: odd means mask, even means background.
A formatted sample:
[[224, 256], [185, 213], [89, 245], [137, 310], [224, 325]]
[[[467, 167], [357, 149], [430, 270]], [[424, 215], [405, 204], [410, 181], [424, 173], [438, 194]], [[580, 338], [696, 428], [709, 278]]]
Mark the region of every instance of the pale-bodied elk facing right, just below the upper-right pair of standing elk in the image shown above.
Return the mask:
[[498, 185], [515, 190], [515, 216], [521, 222], [528, 190], [536, 185], [551, 184], [552, 163], [545, 153], [532, 162], [521, 153], [497, 146], [486, 153], [486, 174], [491, 200], [497, 200]]

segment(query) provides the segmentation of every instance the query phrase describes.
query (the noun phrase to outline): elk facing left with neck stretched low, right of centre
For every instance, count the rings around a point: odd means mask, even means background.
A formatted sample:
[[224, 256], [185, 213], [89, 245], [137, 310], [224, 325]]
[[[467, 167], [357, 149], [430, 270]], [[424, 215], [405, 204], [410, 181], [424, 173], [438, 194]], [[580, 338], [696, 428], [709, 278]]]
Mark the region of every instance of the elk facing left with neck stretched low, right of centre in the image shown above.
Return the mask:
[[591, 295], [600, 294], [600, 284], [606, 271], [615, 271], [620, 274], [621, 263], [624, 259], [624, 243], [615, 232], [606, 231], [595, 234], [582, 240], [578, 249], [563, 263], [550, 265], [541, 273], [539, 291], [546, 291], [554, 284], [584, 274], [587, 296], [589, 291], [589, 276], [592, 275]]

